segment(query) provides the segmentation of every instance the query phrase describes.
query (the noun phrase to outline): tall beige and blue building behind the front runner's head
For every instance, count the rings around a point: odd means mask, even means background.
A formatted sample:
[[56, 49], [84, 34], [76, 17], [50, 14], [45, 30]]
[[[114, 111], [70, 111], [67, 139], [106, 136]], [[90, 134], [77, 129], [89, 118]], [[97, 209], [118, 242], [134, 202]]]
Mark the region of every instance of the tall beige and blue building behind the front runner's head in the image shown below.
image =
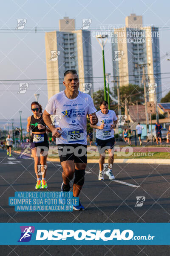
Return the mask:
[[62, 83], [66, 70], [77, 70], [79, 90], [85, 84], [93, 93], [93, 69], [91, 53], [91, 33], [88, 30], [75, 30], [74, 19], [64, 17], [59, 20], [59, 31], [45, 33], [48, 99], [64, 90]]

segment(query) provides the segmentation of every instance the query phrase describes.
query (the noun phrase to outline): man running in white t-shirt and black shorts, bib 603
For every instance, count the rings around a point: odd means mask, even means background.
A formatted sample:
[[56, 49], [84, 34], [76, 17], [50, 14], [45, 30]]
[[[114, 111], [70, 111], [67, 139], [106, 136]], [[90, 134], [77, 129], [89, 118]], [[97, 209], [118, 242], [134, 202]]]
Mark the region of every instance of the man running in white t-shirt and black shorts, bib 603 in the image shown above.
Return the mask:
[[[96, 130], [96, 145], [99, 149], [100, 158], [99, 158], [99, 180], [104, 180], [104, 172], [108, 175], [109, 180], [113, 180], [115, 177], [112, 173], [112, 165], [114, 161], [114, 128], [117, 124], [117, 116], [113, 110], [108, 109], [108, 102], [103, 100], [100, 102], [100, 111], [96, 112], [98, 122], [96, 125], [91, 125], [92, 128]], [[105, 147], [105, 148], [104, 148]], [[108, 149], [108, 168], [103, 168], [105, 163], [105, 153], [102, 150]]]

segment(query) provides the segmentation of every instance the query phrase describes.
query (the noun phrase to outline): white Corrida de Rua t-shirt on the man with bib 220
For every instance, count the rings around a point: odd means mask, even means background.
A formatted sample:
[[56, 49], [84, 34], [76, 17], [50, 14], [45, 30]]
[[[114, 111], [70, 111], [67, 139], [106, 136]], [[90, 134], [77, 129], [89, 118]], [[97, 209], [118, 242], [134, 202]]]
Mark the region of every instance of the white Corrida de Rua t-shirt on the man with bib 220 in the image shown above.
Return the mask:
[[75, 99], [68, 99], [63, 90], [49, 99], [45, 110], [56, 116], [55, 127], [62, 129], [62, 135], [56, 138], [56, 144], [87, 145], [87, 114], [96, 112], [90, 95], [79, 91]]

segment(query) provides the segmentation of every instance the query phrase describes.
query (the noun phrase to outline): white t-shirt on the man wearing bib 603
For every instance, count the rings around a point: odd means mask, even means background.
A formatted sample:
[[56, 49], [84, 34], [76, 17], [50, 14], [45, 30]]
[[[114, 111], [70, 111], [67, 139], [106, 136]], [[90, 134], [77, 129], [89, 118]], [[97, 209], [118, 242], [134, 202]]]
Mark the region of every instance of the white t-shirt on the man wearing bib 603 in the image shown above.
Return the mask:
[[96, 129], [96, 138], [100, 140], [108, 140], [114, 137], [114, 130], [111, 129], [113, 121], [117, 120], [116, 113], [113, 110], [109, 110], [107, 114], [103, 114], [102, 111], [97, 111], [96, 116], [98, 118], [98, 123], [96, 125], [100, 126], [102, 123], [105, 127], [102, 130]]

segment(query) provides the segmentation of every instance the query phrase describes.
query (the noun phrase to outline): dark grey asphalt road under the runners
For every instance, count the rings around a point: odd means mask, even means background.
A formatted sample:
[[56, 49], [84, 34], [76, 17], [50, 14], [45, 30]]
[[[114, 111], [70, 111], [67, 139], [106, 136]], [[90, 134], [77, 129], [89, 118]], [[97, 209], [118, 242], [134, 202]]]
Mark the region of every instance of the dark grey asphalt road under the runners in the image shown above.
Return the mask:
[[[15, 212], [8, 197], [16, 191], [35, 191], [33, 159], [17, 159], [0, 149], [0, 222], [168, 222], [170, 172], [168, 165], [114, 164], [116, 179], [98, 180], [98, 163], [88, 164], [80, 199], [82, 212]], [[19, 162], [18, 162], [19, 161]], [[60, 191], [62, 168], [48, 162], [47, 191]], [[123, 182], [123, 183], [122, 183]], [[135, 186], [131, 186], [135, 185]], [[145, 197], [135, 207], [136, 197]], [[159, 256], [170, 255], [169, 246], [0, 246], [0, 256]]]

